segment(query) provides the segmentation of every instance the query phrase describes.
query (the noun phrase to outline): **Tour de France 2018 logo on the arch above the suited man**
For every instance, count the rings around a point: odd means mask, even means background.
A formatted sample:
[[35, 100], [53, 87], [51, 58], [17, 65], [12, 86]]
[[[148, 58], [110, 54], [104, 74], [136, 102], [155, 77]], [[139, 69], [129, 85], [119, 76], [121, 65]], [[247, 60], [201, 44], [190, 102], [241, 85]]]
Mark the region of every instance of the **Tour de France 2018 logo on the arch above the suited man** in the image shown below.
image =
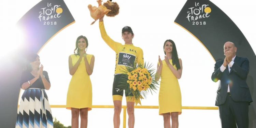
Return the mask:
[[207, 23], [203, 19], [210, 17], [211, 11], [212, 9], [208, 4], [195, 2], [194, 7], [188, 8], [186, 18], [189, 22], [192, 22], [192, 25], [206, 25]]

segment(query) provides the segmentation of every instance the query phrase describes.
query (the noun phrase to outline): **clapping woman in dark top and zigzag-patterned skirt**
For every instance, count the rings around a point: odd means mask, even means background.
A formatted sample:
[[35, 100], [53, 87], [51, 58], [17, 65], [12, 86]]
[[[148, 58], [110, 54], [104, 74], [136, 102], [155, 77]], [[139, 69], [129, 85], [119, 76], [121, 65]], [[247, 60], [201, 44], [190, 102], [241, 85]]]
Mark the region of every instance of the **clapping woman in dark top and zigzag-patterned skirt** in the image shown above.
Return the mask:
[[52, 112], [44, 91], [50, 89], [51, 83], [40, 64], [37, 54], [27, 58], [26, 70], [20, 80], [20, 87], [25, 91], [18, 108], [16, 128], [53, 128]]

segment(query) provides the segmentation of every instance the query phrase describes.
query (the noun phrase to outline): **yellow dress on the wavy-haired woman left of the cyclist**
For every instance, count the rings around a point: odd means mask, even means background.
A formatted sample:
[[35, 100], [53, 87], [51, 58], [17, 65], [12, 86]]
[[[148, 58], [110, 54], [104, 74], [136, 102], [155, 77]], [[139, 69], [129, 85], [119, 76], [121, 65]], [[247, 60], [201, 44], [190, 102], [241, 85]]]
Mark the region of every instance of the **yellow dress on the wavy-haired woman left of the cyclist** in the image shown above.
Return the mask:
[[[87, 55], [86, 58], [90, 64], [91, 57], [93, 55]], [[79, 60], [79, 55], [71, 55], [73, 66]], [[91, 87], [90, 76], [86, 72], [84, 57], [82, 58], [80, 65], [76, 72], [73, 74], [69, 83], [67, 94], [67, 109], [76, 108], [88, 108], [91, 110], [93, 100], [93, 93]]]

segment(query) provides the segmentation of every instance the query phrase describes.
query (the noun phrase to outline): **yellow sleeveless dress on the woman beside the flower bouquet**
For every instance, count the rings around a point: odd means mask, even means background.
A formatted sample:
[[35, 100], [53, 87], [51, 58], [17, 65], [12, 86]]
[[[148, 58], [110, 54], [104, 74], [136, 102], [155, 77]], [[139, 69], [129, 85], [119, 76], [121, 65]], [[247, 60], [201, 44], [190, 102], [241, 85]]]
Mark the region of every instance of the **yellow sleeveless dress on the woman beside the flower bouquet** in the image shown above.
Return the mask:
[[[172, 59], [169, 60], [172, 65]], [[159, 115], [179, 112], [181, 114], [181, 89], [178, 79], [174, 76], [165, 60], [162, 60], [161, 83], [159, 90]], [[158, 62], [159, 65], [159, 62]], [[175, 69], [176, 66], [173, 66]]]

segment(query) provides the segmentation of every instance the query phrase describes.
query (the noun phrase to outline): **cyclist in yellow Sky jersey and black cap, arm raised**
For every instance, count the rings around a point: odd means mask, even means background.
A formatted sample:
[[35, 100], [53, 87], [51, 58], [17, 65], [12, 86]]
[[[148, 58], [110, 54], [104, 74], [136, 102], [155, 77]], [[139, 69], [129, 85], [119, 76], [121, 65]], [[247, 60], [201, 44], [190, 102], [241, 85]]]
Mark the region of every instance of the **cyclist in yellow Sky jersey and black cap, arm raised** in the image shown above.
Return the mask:
[[[104, 17], [104, 16], [103, 16]], [[122, 29], [122, 38], [125, 44], [121, 44], [113, 41], [106, 33], [103, 17], [99, 19], [99, 28], [102, 39], [116, 52], [116, 66], [115, 66], [115, 77], [112, 88], [112, 96], [114, 102], [114, 128], [119, 128], [120, 126], [120, 113], [122, 109], [122, 99], [123, 90], [119, 90], [118, 84], [122, 74], [122, 69], [126, 66], [134, 65], [136, 63], [144, 63], [143, 51], [141, 48], [136, 47], [132, 44], [132, 39], [134, 37], [131, 27], [125, 26]], [[127, 102], [127, 113], [128, 113], [128, 126], [129, 128], [134, 128], [134, 98], [132, 95], [125, 93]]]

